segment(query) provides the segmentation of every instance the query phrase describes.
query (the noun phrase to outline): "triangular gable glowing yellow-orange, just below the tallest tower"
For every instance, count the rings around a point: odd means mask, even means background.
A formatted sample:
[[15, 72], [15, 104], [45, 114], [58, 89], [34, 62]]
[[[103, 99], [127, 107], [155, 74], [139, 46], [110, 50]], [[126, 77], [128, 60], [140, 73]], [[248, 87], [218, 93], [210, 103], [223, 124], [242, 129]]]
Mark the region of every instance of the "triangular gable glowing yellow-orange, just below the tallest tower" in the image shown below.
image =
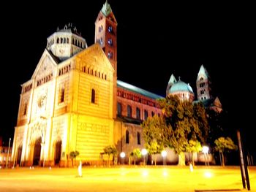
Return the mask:
[[103, 52], [99, 44], [94, 44], [80, 53], [75, 55], [76, 60], [80, 66], [89, 66], [102, 71], [108, 70], [108, 72], [114, 72], [112, 64], [108, 60], [107, 56]]

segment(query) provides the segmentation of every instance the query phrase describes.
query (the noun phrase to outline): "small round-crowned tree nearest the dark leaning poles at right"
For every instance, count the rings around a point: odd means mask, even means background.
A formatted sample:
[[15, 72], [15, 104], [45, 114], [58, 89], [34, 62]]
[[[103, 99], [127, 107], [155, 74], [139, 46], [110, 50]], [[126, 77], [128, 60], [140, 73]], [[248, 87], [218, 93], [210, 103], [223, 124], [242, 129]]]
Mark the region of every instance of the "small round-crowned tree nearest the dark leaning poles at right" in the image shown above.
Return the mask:
[[225, 166], [224, 152], [229, 152], [230, 150], [237, 150], [237, 146], [234, 144], [230, 137], [219, 137], [215, 140], [215, 150], [219, 151], [219, 158], [222, 166]]

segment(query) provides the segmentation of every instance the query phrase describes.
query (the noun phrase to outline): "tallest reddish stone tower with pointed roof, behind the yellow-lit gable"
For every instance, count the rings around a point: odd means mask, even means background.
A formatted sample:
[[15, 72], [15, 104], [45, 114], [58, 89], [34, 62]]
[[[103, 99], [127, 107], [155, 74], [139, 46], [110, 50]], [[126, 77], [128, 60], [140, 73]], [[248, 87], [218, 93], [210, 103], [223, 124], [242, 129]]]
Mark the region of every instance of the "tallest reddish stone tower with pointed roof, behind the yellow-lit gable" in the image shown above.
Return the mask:
[[117, 22], [112, 12], [108, 0], [103, 4], [98, 17], [95, 21], [95, 43], [99, 43], [102, 50], [107, 55], [108, 60], [115, 69], [113, 74], [113, 118], [116, 118], [117, 113], [117, 43], [116, 43]]

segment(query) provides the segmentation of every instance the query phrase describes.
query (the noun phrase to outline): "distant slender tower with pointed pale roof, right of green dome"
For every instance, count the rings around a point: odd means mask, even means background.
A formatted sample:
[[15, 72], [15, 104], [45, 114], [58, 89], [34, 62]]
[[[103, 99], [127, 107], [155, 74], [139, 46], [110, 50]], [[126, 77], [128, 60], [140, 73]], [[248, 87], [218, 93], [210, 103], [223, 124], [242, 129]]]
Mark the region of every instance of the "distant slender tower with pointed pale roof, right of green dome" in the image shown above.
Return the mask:
[[197, 75], [197, 100], [211, 99], [211, 80], [206, 68], [201, 65]]

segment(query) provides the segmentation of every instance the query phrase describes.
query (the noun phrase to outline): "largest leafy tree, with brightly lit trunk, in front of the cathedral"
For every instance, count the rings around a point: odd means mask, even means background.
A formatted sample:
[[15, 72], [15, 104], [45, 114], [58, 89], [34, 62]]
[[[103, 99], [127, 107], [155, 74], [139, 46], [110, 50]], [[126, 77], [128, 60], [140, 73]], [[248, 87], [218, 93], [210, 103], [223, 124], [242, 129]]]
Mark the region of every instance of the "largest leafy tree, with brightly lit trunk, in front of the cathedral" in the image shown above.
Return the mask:
[[159, 106], [165, 118], [165, 138], [168, 146], [178, 153], [178, 165], [185, 165], [185, 155], [189, 140], [205, 142], [208, 136], [208, 122], [203, 104], [181, 101], [178, 96], [159, 99]]

